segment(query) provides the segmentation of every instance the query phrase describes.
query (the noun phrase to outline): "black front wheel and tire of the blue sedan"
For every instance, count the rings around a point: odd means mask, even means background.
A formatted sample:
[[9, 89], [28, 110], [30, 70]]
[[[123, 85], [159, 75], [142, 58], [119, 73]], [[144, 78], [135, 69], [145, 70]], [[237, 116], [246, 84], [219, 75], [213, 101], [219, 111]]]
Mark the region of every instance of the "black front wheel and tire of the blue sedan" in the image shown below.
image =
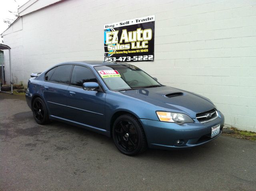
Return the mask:
[[114, 121], [112, 137], [118, 150], [125, 155], [136, 155], [147, 149], [142, 125], [133, 115], [121, 115]]

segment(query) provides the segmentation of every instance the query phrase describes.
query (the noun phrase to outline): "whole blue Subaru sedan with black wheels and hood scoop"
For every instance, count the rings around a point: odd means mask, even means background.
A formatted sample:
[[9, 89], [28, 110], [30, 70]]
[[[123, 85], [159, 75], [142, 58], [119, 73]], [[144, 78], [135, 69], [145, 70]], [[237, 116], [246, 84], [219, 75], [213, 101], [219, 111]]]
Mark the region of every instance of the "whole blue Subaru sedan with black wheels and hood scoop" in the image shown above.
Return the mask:
[[58, 120], [102, 133], [126, 155], [202, 145], [224, 125], [206, 97], [164, 86], [130, 64], [65, 62], [31, 77], [26, 101], [37, 123]]

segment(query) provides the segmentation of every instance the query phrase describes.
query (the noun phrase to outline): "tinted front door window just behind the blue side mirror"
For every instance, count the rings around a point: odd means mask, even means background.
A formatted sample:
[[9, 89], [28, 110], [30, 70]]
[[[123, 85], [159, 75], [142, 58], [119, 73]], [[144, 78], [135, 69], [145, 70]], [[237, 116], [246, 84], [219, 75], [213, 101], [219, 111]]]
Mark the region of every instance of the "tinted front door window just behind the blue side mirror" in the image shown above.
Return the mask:
[[83, 87], [84, 82], [97, 82], [97, 79], [89, 68], [74, 66], [70, 85]]

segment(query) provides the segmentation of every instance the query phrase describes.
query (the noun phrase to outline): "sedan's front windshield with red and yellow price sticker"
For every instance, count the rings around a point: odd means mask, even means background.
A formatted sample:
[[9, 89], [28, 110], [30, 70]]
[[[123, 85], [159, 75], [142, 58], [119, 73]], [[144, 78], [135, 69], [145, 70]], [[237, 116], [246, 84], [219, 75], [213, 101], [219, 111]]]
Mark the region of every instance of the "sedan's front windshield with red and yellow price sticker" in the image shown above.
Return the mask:
[[95, 66], [105, 84], [113, 91], [162, 86], [136, 66]]

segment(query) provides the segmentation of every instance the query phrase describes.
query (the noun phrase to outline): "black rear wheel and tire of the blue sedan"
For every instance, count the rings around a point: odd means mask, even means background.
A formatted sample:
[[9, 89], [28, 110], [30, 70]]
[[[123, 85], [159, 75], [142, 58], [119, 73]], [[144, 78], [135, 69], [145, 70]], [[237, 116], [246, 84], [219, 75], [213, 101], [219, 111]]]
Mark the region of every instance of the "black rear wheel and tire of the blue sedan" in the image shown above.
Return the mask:
[[34, 119], [38, 124], [44, 125], [50, 122], [46, 105], [40, 97], [36, 97], [36, 99], [34, 99], [32, 104], [32, 111]]

